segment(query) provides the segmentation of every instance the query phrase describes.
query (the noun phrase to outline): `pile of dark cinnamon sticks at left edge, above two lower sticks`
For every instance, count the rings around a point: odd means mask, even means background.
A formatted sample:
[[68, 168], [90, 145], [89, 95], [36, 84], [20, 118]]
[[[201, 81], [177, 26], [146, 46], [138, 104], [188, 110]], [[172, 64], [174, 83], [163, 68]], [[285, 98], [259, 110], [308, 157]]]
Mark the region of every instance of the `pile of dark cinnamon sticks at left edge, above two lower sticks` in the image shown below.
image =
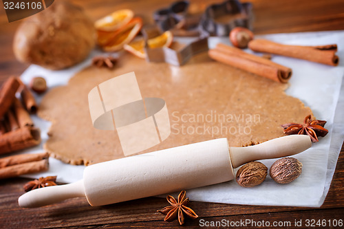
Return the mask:
[[[21, 94], [23, 103], [16, 97], [17, 92]], [[30, 113], [36, 110], [34, 96], [19, 78], [10, 77], [3, 83], [0, 89], [0, 154], [41, 142], [40, 130], [34, 127], [30, 118]]]

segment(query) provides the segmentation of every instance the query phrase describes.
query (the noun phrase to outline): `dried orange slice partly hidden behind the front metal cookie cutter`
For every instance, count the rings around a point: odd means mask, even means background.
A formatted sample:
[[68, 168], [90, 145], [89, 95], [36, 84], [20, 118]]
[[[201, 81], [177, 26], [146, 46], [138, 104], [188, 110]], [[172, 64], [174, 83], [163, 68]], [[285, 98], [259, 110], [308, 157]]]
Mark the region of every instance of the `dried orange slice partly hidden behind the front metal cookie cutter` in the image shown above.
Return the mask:
[[[147, 41], [147, 44], [150, 48], [153, 49], [156, 47], [169, 47], [172, 44], [172, 41], [173, 34], [169, 31], [166, 31], [160, 36], [149, 39]], [[146, 53], [144, 52], [144, 39], [132, 41], [131, 43], [124, 45], [124, 49], [140, 58], [146, 57]]]

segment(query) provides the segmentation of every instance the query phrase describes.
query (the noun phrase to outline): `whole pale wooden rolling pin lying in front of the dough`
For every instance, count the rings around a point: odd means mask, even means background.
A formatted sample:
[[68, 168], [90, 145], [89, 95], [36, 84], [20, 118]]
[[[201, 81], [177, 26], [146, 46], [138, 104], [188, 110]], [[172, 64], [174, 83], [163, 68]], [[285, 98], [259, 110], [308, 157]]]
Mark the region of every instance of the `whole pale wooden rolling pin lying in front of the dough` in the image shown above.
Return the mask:
[[31, 190], [19, 206], [34, 208], [73, 197], [92, 206], [197, 188], [234, 179], [233, 168], [255, 160], [285, 157], [310, 148], [308, 135], [288, 135], [247, 147], [228, 147], [226, 138], [87, 166], [83, 179]]

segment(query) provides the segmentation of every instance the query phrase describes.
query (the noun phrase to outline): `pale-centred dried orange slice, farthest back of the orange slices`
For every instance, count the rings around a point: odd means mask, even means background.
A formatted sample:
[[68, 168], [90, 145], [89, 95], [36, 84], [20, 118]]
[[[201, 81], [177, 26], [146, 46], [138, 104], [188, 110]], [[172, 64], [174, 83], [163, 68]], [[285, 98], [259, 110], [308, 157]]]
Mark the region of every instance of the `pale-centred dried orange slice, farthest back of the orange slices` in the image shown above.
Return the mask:
[[112, 14], [97, 20], [94, 23], [96, 30], [100, 31], [115, 31], [121, 28], [123, 25], [129, 23], [133, 19], [133, 11], [131, 10], [117, 10]]

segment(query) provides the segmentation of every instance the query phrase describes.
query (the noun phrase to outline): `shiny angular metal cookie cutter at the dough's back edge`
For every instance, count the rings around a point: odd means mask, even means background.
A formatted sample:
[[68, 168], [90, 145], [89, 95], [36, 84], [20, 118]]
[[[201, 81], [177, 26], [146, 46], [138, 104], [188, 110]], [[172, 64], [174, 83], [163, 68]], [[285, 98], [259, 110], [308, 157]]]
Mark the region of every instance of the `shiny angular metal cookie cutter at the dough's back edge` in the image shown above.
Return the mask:
[[[144, 28], [142, 33], [146, 41], [161, 34], [157, 27]], [[195, 54], [208, 51], [208, 37], [194, 38], [191, 43], [182, 47], [178, 43], [173, 42], [171, 47], [149, 48], [146, 42], [144, 51], [147, 54], [146, 60], [149, 62], [166, 62], [171, 65], [180, 66], [184, 65]]]

